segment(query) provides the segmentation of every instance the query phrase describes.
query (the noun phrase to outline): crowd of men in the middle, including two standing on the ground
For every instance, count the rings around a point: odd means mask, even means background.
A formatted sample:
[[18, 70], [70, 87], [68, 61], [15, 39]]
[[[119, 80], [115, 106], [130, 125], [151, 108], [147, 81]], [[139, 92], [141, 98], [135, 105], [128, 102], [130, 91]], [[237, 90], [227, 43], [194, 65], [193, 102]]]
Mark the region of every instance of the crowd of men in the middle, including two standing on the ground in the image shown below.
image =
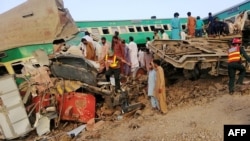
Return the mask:
[[[158, 33], [155, 36], [159, 36], [159, 39], [169, 39], [164, 30], [161, 31], [161, 34], [161, 37]], [[121, 74], [130, 76], [137, 68], [145, 68], [148, 75], [150, 75], [148, 95], [151, 98], [153, 109], [157, 109], [165, 114], [167, 112], [167, 104], [164, 72], [160, 66], [160, 61], [154, 60], [149, 50], [150, 37], [147, 37], [146, 40], [146, 47], [138, 49], [132, 36], [129, 37], [129, 42], [126, 43], [124, 39], [120, 38], [117, 31], [114, 33], [111, 43], [105, 37], [101, 37], [101, 42], [99, 43], [92, 38], [89, 32], [85, 32], [78, 46], [66, 47], [67, 51], [63, 49], [63, 46], [54, 46], [54, 54], [73, 54], [88, 59], [96, 66], [99, 73], [105, 74], [108, 82], [110, 82], [111, 77], [114, 78], [116, 93], [122, 91], [120, 86]]]

